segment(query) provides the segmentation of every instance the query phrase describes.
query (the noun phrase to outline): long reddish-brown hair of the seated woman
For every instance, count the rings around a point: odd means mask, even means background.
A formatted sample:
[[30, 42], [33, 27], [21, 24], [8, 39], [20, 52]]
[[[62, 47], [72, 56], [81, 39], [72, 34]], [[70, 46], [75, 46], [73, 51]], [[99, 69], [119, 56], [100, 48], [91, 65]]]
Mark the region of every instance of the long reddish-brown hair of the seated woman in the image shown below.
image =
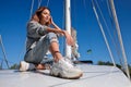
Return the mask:
[[[39, 9], [36, 10], [35, 14], [32, 16], [31, 21], [36, 21], [36, 22], [40, 22], [40, 14], [44, 10], [49, 10], [47, 7], [40, 7]], [[49, 10], [50, 11], [50, 10]], [[50, 24], [50, 22], [46, 23], [46, 25], [48, 26]]]

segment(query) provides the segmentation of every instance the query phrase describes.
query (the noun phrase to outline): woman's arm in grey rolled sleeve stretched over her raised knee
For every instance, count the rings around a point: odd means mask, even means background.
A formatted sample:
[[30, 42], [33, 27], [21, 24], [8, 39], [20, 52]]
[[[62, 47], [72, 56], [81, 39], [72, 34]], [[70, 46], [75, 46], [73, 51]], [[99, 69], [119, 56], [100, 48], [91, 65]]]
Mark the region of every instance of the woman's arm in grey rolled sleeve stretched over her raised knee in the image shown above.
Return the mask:
[[28, 37], [39, 38], [48, 33], [63, 34], [66, 36], [67, 44], [69, 46], [74, 45], [71, 35], [66, 30], [61, 30], [58, 28], [51, 28], [51, 27], [47, 27], [47, 26], [41, 26], [37, 22], [29, 22], [27, 25], [27, 36]]

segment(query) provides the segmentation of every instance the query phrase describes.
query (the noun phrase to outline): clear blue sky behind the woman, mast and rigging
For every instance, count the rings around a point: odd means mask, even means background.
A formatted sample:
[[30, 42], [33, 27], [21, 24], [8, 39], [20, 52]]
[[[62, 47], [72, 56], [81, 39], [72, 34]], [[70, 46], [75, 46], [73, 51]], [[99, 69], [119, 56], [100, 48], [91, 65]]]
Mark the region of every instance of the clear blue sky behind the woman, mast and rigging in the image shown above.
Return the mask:
[[[46, 5], [48, 0], [41, 0], [41, 5]], [[114, 26], [114, 22], [107, 9], [107, 0], [97, 0], [99, 8], [109, 27], [110, 35], [117, 46], [118, 52], [119, 41]], [[26, 23], [31, 15], [32, 0], [0, 0], [0, 35], [7, 53], [7, 59], [10, 65], [19, 63], [23, 60], [25, 52], [26, 39]], [[126, 49], [128, 63], [131, 64], [131, 0], [115, 0], [118, 21], [120, 24], [121, 35]], [[35, 0], [33, 12], [37, 9], [38, 0]], [[49, 0], [48, 8], [51, 10], [53, 21], [58, 26], [64, 28], [63, 20], [63, 0]], [[98, 9], [97, 9], [98, 11]], [[111, 61], [103, 35], [100, 33], [98, 23], [93, 12], [91, 0], [72, 0], [71, 1], [71, 18], [72, 27], [78, 32], [79, 52], [81, 60], [92, 60], [94, 63], [97, 61]], [[99, 14], [99, 12], [98, 12]], [[121, 53], [116, 51], [116, 47], [109, 37], [107, 28], [100, 16], [105, 34], [108, 38], [115, 61], [120, 63], [119, 58]], [[63, 45], [60, 45], [63, 48]], [[87, 50], [92, 49], [92, 53]], [[0, 49], [0, 62], [2, 61], [2, 52]]]

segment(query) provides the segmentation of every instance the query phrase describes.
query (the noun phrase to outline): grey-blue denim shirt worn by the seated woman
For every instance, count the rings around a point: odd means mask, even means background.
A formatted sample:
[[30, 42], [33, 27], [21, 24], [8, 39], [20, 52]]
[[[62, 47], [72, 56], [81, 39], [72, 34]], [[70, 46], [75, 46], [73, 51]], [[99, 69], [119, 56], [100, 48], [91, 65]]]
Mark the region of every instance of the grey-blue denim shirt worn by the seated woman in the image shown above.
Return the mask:
[[46, 25], [40, 25], [38, 22], [31, 21], [27, 24], [26, 51], [33, 49], [36, 46], [36, 42], [40, 39], [40, 37], [45, 36], [46, 34]]

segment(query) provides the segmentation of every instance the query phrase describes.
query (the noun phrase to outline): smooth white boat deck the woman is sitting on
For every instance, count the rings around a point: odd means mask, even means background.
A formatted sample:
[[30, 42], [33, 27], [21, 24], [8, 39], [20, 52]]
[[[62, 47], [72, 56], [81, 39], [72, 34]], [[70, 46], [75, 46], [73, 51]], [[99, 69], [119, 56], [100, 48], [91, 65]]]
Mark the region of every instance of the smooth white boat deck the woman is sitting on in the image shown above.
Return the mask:
[[80, 79], [63, 79], [49, 75], [49, 71], [0, 71], [0, 87], [131, 87], [124, 74], [114, 66], [79, 65], [84, 75]]

